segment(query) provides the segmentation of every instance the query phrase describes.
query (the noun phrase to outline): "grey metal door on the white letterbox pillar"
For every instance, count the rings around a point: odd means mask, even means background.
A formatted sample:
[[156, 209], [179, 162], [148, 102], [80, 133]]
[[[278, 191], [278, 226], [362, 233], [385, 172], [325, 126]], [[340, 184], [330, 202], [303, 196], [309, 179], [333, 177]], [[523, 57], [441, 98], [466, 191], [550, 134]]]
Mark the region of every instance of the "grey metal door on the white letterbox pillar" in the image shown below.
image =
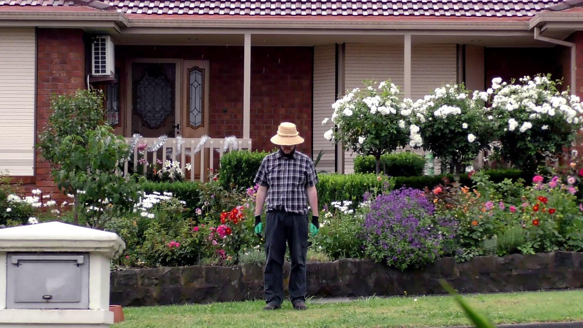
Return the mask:
[[88, 254], [12, 253], [7, 260], [7, 308], [89, 308]]

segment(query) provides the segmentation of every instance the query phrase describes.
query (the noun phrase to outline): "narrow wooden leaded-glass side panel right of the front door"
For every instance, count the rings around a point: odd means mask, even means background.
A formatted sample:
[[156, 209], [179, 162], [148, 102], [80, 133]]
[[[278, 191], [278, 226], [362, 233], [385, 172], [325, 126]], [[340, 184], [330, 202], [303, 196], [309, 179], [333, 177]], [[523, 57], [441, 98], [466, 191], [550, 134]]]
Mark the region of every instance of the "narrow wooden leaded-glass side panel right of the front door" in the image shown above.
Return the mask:
[[[209, 62], [183, 60], [181, 68], [181, 120], [180, 132], [184, 138], [201, 138], [209, 135]], [[204, 172], [208, 172], [210, 149], [203, 148]], [[195, 155], [196, 170], [191, 172], [200, 178], [201, 153]], [[193, 168], [194, 169], [194, 168]], [[205, 173], [206, 174], [206, 173]]]

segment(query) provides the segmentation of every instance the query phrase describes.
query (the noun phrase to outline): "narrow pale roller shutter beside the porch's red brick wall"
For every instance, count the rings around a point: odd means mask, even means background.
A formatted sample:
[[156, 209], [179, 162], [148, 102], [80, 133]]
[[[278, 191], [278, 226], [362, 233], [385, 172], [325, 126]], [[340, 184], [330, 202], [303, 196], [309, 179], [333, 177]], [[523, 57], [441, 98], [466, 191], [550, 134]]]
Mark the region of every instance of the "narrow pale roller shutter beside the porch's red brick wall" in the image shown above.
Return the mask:
[[320, 159], [316, 170], [335, 172], [335, 146], [333, 142], [324, 138], [324, 132], [334, 125], [328, 122], [322, 125], [322, 120], [332, 117], [332, 103], [335, 102], [336, 88], [336, 46], [316, 46], [314, 47], [314, 124], [313, 158], [318, 158], [320, 151], [324, 155]]

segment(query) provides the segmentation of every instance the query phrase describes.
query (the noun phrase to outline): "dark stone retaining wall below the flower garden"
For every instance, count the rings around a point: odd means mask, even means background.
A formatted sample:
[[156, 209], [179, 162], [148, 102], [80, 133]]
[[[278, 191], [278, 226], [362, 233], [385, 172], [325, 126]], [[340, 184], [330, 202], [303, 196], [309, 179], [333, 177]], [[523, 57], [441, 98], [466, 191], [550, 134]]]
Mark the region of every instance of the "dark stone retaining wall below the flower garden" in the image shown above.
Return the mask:
[[[287, 289], [290, 265], [284, 267]], [[444, 257], [424, 270], [402, 273], [368, 260], [307, 264], [308, 295], [371, 296], [442, 294], [445, 278], [460, 292], [509, 292], [582, 288], [583, 253], [479, 256], [456, 263]], [[286, 291], [287, 292], [287, 291]], [[123, 306], [262, 299], [258, 266], [160, 267], [111, 273], [111, 304]]]

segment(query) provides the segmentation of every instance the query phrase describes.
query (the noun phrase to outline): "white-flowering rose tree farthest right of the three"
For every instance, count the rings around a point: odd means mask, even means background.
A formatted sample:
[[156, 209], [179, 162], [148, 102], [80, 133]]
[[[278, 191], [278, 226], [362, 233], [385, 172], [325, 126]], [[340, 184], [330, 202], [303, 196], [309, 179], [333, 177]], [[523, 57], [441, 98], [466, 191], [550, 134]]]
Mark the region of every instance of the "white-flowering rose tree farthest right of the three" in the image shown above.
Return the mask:
[[581, 128], [582, 105], [578, 96], [559, 92], [550, 75], [512, 80], [492, 80], [487, 92], [474, 99], [488, 100], [500, 146], [495, 151], [521, 169], [535, 172], [547, 157], [563, 151]]

